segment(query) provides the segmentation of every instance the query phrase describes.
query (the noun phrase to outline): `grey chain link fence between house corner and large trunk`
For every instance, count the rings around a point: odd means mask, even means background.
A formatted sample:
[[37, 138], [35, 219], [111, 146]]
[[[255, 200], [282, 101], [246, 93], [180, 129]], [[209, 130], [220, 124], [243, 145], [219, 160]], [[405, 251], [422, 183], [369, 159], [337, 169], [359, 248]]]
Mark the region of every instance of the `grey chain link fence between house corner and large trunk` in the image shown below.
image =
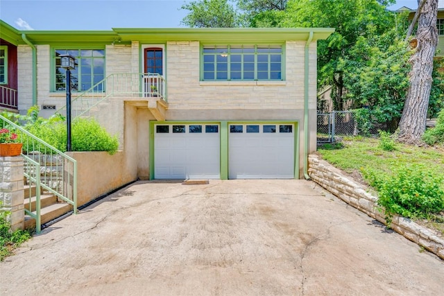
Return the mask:
[[357, 136], [359, 134], [378, 134], [378, 130], [394, 132], [398, 128], [397, 122], [366, 123], [365, 130], [362, 123], [356, 119], [352, 111], [333, 111], [330, 113], [318, 113], [317, 119], [318, 143], [332, 143], [338, 137]]

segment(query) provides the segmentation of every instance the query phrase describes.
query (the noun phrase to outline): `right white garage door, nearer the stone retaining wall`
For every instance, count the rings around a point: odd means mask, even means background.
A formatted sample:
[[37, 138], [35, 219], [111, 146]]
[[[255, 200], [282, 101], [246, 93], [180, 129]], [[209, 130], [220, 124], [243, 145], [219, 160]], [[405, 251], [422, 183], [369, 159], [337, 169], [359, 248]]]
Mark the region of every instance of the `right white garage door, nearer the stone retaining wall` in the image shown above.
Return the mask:
[[228, 177], [294, 177], [294, 125], [230, 124]]

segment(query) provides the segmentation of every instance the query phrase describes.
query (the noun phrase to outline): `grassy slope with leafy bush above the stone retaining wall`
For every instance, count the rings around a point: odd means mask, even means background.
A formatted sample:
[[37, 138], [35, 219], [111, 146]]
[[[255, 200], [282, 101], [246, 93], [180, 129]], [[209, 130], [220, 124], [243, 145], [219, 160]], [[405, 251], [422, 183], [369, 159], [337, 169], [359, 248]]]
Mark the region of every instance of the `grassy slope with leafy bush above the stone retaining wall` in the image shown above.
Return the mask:
[[387, 151], [380, 143], [380, 139], [348, 137], [342, 149], [320, 148], [318, 153], [344, 171], [361, 172], [379, 193], [379, 205], [386, 209], [388, 222], [393, 214], [440, 220], [439, 213], [444, 211], [443, 153], [402, 143]]

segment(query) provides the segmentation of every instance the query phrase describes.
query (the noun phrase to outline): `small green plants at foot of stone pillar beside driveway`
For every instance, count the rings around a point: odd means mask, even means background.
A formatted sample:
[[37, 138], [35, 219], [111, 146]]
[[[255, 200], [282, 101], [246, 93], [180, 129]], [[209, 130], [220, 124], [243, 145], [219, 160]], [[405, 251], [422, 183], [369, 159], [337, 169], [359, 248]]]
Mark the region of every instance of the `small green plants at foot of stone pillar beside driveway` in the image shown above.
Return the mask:
[[31, 238], [31, 233], [21, 229], [12, 232], [11, 225], [7, 219], [8, 211], [0, 211], [0, 261], [10, 255], [15, 247]]

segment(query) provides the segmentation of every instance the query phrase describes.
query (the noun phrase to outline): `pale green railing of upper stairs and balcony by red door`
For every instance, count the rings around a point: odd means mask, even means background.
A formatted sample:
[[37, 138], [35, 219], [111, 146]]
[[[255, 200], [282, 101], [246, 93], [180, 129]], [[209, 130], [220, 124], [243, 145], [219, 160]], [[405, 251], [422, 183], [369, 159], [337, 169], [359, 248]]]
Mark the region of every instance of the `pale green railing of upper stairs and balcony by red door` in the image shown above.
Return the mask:
[[[71, 116], [90, 116], [99, 103], [109, 98], [157, 97], [167, 101], [166, 81], [157, 73], [115, 73], [71, 100]], [[66, 115], [66, 105], [57, 113]]]

